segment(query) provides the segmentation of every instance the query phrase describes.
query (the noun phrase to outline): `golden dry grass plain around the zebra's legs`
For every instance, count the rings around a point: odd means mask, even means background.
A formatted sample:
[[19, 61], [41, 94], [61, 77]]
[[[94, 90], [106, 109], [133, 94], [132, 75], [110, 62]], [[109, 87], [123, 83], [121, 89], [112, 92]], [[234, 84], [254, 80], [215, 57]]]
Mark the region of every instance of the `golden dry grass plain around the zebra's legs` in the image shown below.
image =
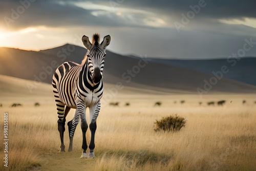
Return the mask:
[[[148, 99], [148, 98], [147, 98]], [[130, 100], [129, 108], [105, 105], [97, 120], [94, 159], [80, 159], [78, 125], [74, 151], [58, 153], [59, 134], [54, 104], [24, 105], [9, 112], [9, 170], [255, 170], [256, 105], [236, 100], [221, 106], [173, 99]], [[127, 99], [125, 99], [127, 100]], [[137, 101], [136, 101], [137, 100]], [[205, 100], [205, 102], [207, 99]], [[238, 100], [239, 101], [239, 100]], [[124, 101], [120, 101], [121, 103]], [[190, 103], [189, 103], [190, 102]], [[28, 102], [29, 103], [29, 102]], [[172, 103], [172, 106], [169, 104]], [[31, 102], [33, 104], [33, 102]], [[68, 119], [73, 117], [71, 111]], [[178, 114], [186, 126], [177, 133], [156, 133], [154, 122]], [[3, 123], [3, 115], [1, 116]], [[3, 132], [1, 124], [1, 132]], [[65, 144], [68, 148], [68, 129]], [[88, 136], [90, 132], [88, 131]], [[1, 146], [2, 151], [2, 146]], [[1, 158], [3, 153], [1, 153]], [[6, 168], [1, 165], [0, 170]]]

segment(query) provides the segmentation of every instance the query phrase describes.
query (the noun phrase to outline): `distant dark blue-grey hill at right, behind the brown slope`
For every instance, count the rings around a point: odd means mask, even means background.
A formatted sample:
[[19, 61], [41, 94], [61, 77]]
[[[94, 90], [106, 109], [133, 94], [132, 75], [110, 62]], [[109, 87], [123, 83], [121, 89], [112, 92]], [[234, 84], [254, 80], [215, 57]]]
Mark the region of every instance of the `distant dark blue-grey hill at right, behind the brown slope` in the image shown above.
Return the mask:
[[212, 75], [218, 72], [222, 66], [228, 67], [228, 72], [223, 74], [224, 78], [237, 80], [240, 82], [256, 86], [256, 58], [243, 57], [236, 59], [158, 59], [149, 58], [154, 62], [164, 63], [170, 66], [181, 67]]

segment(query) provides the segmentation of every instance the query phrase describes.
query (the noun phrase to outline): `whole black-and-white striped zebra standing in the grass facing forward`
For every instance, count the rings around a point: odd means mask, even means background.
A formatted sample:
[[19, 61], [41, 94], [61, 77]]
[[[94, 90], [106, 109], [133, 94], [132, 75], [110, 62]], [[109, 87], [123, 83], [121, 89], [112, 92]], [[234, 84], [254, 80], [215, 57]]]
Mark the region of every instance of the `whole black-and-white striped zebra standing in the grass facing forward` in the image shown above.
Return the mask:
[[[100, 99], [103, 95], [102, 72], [104, 67], [105, 49], [110, 44], [111, 37], [107, 35], [99, 44], [99, 35], [93, 35], [93, 41], [85, 35], [82, 36], [83, 45], [87, 54], [81, 64], [69, 61], [60, 65], [52, 79], [53, 93], [57, 106], [58, 131], [60, 135], [60, 152], [65, 152], [63, 134], [65, 132], [66, 116], [71, 108], [76, 109], [74, 118], [68, 122], [69, 128], [69, 152], [73, 149], [73, 137], [76, 126], [81, 120], [82, 130], [82, 155], [81, 158], [93, 158], [94, 138], [97, 128], [96, 119], [100, 111]], [[65, 108], [66, 106], [66, 108]], [[87, 153], [86, 132], [88, 123], [86, 120], [86, 108], [90, 110], [91, 140], [89, 144], [90, 153]]]

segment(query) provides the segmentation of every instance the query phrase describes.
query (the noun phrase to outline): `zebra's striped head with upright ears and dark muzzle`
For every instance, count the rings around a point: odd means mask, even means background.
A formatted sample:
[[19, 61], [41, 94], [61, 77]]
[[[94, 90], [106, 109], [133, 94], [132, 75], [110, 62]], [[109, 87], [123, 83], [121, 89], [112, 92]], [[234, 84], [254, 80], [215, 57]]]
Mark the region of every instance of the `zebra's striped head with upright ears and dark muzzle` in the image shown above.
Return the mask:
[[94, 84], [97, 84], [102, 79], [102, 72], [104, 67], [104, 57], [106, 47], [110, 44], [110, 35], [104, 37], [103, 41], [99, 44], [99, 35], [93, 35], [93, 42], [91, 43], [87, 36], [82, 36], [83, 45], [86, 47], [88, 67], [91, 78]]

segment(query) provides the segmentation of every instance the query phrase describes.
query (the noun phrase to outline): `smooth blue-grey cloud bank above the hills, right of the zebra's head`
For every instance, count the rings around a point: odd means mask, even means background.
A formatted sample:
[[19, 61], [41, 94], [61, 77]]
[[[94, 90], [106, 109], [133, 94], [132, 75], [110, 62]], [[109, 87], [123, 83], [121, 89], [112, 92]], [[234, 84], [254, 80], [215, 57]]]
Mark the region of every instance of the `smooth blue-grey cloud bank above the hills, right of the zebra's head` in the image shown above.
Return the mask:
[[[124, 33], [125, 38], [122, 35]], [[256, 42], [255, 36], [201, 30], [183, 31], [182, 34], [177, 34], [175, 29], [137, 28], [133, 31], [113, 30], [110, 35], [113, 37], [110, 50], [117, 53], [177, 59], [227, 58], [243, 48], [246, 38], [248, 40], [252, 38], [253, 42]], [[113, 47], [115, 49], [112, 49]], [[246, 56], [255, 55], [255, 47], [246, 52]]]

